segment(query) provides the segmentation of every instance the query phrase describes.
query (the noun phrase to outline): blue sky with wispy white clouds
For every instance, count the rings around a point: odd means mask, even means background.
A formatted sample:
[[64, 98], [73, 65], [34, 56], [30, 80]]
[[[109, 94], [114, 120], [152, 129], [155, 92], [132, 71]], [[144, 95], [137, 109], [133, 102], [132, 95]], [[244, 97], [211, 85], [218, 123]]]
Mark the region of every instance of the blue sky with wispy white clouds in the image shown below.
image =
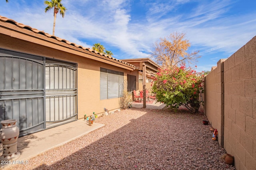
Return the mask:
[[[62, 0], [55, 35], [92, 48], [101, 43], [114, 58], [149, 57], [153, 44], [184, 32], [197, 70], [211, 70], [256, 35], [255, 0]], [[0, 15], [52, 34], [53, 10], [44, 0], [0, 0]]]

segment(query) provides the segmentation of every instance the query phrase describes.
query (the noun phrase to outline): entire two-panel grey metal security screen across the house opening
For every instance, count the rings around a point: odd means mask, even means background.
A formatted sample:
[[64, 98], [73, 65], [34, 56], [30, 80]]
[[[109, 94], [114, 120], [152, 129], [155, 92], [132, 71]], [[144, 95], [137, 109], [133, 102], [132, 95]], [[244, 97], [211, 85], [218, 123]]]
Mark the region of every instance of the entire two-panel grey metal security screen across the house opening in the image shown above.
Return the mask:
[[24, 136], [76, 120], [76, 66], [0, 49], [0, 121], [16, 119]]

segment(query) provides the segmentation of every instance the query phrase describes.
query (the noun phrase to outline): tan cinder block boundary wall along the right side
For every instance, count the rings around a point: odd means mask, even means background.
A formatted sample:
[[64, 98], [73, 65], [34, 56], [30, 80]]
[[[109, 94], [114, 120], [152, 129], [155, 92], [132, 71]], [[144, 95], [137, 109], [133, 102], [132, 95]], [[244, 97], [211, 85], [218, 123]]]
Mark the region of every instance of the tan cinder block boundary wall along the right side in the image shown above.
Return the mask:
[[[222, 62], [220, 62], [222, 63]], [[218, 67], [221, 64], [218, 64]], [[218, 69], [218, 67], [216, 69]], [[256, 37], [223, 61], [224, 87], [218, 84], [218, 70], [206, 76], [205, 113], [215, 128], [219, 127], [222, 113], [219, 113], [217, 92], [210, 89], [223, 88], [224, 92], [224, 149], [234, 155], [238, 170], [256, 169]], [[217, 72], [217, 73], [216, 73]], [[218, 78], [216, 78], [217, 76]], [[216, 87], [213, 87], [215, 84]], [[210, 88], [210, 89], [209, 89]], [[211, 97], [213, 95], [213, 97]], [[215, 101], [215, 103], [210, 103]], [[210, 106], [214, 104], [214, 106]], [[213, 115], [215, 113], [215, 115]], [[219, 139], [222, 140], [222, 139]], [[221, 143], [221, 141], [219, 141]]]

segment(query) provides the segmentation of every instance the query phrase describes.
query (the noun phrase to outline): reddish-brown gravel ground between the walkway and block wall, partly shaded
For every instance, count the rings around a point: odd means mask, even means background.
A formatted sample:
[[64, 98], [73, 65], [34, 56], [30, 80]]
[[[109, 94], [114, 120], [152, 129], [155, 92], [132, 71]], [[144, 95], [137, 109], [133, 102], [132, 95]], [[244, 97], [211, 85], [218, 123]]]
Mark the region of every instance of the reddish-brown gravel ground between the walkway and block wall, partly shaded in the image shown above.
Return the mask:
[[183, 110], [122, 110], [95, 120], [104, 127], [7, 169], [234, 170], [204, 119]]

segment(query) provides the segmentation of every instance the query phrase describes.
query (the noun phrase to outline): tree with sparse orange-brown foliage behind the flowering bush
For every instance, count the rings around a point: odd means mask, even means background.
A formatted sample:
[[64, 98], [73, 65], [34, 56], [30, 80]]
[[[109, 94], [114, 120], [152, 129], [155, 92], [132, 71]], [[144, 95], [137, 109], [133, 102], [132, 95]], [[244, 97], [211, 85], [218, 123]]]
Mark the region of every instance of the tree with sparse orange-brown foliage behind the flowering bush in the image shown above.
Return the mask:
[[199, 51], [193, 53], [187, 52], [190, 48], [190, 43], [185, 39], [185, 33], [171, 33], [167, 38], [160, 38], [154, 44], [154, 50], [150, 57], [163, 68], [173, 68], [180, 64], [192, 64], [198, 59]]

